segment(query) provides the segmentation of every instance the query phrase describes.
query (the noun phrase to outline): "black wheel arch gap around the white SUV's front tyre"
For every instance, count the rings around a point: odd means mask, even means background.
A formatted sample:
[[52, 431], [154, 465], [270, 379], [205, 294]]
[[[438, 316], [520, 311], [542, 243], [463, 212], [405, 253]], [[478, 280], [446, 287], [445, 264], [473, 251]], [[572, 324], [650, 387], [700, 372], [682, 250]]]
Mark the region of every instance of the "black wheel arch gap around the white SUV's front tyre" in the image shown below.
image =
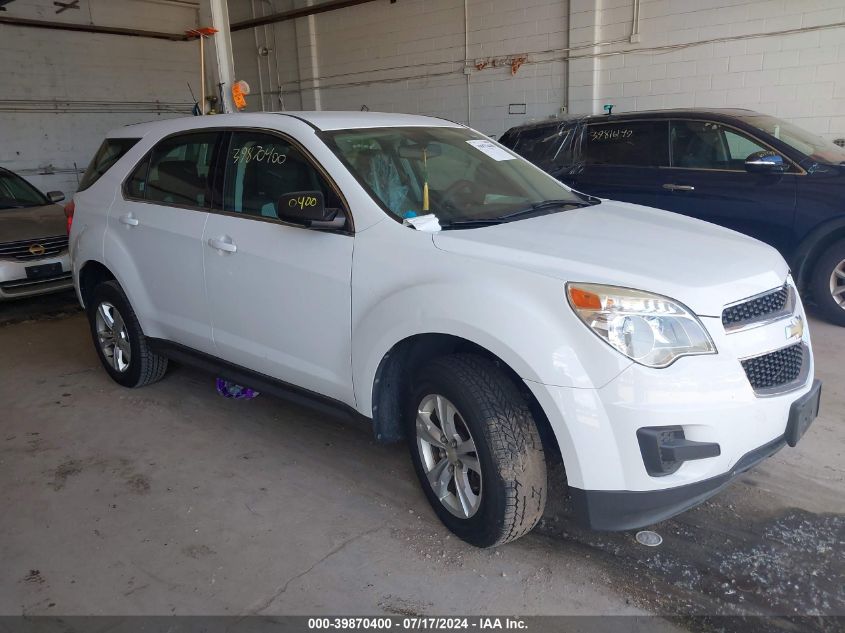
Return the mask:
[[402, 419], [406, 414], [405, 407], [414, 377], [435, 358], [455, 353], [487, 358], [513, 381], [531, 409], [547, 456], [551, 460], [560, 460], [558, 439], [551, 423], [519, 373], [486, 347], [462, 336], [439, 332], [403, 338], [382, 356], [372, 380], [373, 432], [376, 440], [388, 443], [404, 438]]

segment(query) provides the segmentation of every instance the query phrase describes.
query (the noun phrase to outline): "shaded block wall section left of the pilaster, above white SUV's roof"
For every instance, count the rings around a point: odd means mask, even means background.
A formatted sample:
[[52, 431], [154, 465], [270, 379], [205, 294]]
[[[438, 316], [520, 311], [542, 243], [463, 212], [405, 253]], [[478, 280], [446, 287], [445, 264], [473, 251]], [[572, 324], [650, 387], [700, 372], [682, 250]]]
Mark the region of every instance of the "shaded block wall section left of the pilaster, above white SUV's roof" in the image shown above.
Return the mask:
[[[262, 1], [266, 0], [255, 2], [259, 15]], [[281, 11], [289, 5], [276, 2], [275, 8]], [[250, 2], [229, 0], [229, 11], [233, 22], [235, 15], [250, 17]], [[306, 19], [270, 27], [275, 28], [278, 48], [282, 42], [288, 47], [279, 60], [285, 103], [288, 109], [319, 103], [324, 110], [366, 106], [372, 111], [427, 114], [469, 122], [494, 136], [524, 121], [559, 114], [564, 105], [564, 63], [540, 56], [512, 75], [505, 60], [565, 47], [566, 2], [469, 0], [467, 17], [468, 59], [488, 62], [483, 70], [472, 68], [469, 80], [464, 74], [467, 54], [460, 0], [395, 4], [379, 0], [313, 16], [310, 31]], [[259, 44], [272, 43], [273, 34], [262, 29], [233, 35], [238, 76], [256, 75], [256, 36]], [[264, 83], [268, 83], [266, 70]], [[255, 83], [250, 85], [250, 109], [261, 109]], [[269, 98], [265, 104], [278, 105]]]

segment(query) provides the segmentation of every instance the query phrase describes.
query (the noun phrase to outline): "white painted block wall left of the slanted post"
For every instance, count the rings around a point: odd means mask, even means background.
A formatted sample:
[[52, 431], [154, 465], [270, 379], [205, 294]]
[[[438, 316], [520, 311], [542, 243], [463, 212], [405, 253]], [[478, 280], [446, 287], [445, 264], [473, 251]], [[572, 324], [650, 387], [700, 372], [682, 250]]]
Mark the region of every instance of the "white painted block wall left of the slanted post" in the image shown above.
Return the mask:
[[[81, 0], [56, 14], [52, 0], [6, 5], [4, 16], [180, 33], [189, 7], [149, 0]], [[0, 166], [43, 191], [76, 190], [106, 132], [190, 113], [198, 93], [196, 42], [98, 35], [0, 24]]]

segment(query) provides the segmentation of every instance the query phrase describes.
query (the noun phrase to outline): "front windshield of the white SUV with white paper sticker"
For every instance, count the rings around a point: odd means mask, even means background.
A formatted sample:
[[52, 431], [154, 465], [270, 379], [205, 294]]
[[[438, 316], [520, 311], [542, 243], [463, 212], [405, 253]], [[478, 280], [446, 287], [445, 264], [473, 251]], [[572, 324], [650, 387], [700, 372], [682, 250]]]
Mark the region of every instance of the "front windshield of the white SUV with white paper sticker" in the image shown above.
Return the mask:
[[587, 203], [467, 128], [368, 128], [322, 136], [373, 199], [400, 220], [433, 214], [444, 227], [493, 223], [531, 215], [549, 201], [559, 204], [544, 205], [548, 212]]

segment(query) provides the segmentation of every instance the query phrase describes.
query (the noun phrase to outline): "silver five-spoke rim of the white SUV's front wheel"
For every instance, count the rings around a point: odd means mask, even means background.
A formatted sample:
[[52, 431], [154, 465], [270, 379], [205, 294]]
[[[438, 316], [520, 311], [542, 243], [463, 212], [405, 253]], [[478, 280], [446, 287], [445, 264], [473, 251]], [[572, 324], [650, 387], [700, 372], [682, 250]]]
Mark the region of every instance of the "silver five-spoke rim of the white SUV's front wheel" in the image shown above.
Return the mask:
[[448, 399], [430, 394], [420, 402], [416, 428], [429, 486], [449, 512], [470, 518], [481, 505], [481, 464], [463, 416]]

